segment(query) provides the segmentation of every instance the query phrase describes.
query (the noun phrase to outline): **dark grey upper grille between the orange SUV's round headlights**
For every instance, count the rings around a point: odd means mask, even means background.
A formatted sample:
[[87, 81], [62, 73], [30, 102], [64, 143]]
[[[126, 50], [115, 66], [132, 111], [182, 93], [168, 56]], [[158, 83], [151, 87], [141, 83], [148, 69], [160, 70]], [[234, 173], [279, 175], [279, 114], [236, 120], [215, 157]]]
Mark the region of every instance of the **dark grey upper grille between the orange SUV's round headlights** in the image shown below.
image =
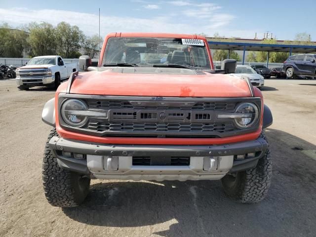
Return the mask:
[[[67, 96], [66, 96], [67, 98]], [[181, 98], [136, 96], [71, 95], [81, 99], [88, 110], [108, 114], [93, 116], [81, 127], [66, 129], [103, 137], [221, 138], [258, 129], [240, 129], [233, 118], [217, 118], [233, 113], [238, 104], [251, 101], [261, 108], [260, 98]], [[59, 106], [62, 104], [59, 100]]]

